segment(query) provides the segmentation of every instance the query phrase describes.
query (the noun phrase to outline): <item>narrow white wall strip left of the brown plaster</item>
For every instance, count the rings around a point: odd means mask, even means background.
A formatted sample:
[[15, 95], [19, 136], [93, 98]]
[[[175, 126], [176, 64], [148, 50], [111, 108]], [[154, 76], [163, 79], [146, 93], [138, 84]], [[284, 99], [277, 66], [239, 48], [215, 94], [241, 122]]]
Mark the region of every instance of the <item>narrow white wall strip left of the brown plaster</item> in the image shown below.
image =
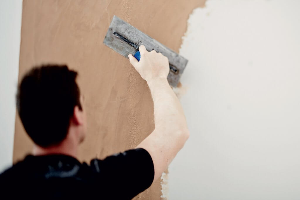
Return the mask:
[[0, 1], [0, 172], [12, 164], [22, 1]]

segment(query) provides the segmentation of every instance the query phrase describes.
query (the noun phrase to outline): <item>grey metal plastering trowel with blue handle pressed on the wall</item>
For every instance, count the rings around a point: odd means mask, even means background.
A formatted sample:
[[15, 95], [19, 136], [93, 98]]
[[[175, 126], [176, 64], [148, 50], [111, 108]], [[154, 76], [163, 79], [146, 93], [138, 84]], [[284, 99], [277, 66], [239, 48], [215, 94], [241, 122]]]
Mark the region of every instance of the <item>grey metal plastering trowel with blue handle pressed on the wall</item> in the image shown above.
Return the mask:
[[178, 85], [180, 76], [187, 65], [187, 59], [117, 16], [113, 17], [103, 43], [126, 58], [128, 58], [128, 54], [134, 55], [138, 61], [140, 61], [140, 52], [138, 51], [140, 45], [144, 45], [148, 51], [161, 52], [169, 58], [170, 73], [168, 81], [173, 87]]

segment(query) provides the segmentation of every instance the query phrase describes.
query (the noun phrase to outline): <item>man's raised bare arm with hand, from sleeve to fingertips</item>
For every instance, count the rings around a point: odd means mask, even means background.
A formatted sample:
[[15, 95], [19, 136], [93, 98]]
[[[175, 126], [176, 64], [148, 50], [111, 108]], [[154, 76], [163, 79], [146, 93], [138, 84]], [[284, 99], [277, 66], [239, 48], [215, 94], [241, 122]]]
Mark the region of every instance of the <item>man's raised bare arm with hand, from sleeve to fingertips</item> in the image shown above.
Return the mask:
[[132, 55], [128, 57], [150, 88], [154, 102], [155, 130], [137, 148], [144, 148], [151, 155], [154, 180], [157, 180], [183, 147], [189, 131], [180, 102], [167, 81], [170, 70], [168, 58], [155, 51], [148, 52], [143, 45], [139, 50], [140, 62]]

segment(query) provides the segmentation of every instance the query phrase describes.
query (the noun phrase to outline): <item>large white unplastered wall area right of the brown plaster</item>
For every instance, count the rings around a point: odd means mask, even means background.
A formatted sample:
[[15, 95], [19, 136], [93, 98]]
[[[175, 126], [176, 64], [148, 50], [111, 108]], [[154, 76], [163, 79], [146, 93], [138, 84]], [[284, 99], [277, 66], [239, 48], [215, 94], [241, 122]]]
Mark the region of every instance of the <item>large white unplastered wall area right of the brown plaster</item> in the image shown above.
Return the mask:
[[190, 15], [190, 139], [169, 199], [300, 199], [300, 1], [208, 0]]

